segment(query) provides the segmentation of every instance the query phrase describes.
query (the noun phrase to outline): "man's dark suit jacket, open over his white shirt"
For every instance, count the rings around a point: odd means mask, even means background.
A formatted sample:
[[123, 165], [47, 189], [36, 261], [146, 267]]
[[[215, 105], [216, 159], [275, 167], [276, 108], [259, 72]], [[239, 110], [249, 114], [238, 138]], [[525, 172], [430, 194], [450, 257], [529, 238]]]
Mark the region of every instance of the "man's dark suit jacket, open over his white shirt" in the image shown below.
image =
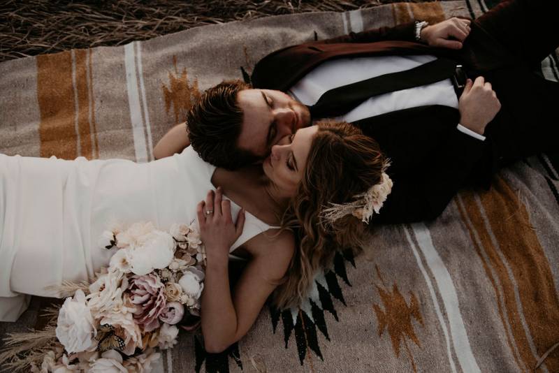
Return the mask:
[[[504, 66], [507, 52], [472, 23], [462, 50], [443, 50], [414, 41], [414, 24], [351, 33], [277, 50], [254, 67], [255, 88], [286, 91], [324, 61], [340, 57], [435, 54], [455, 59], [470, 76]], [[495, 58], [495, 54], [498, 58]], [[498, 163], [491, 136], [481, 141], [456, 129], [456, 109], [431, 105], [389, 112], [354, 124], [379, 142], [392, 166], [393, 190], [377, 223], [434, 219], [467, 181], [489, 184]]]

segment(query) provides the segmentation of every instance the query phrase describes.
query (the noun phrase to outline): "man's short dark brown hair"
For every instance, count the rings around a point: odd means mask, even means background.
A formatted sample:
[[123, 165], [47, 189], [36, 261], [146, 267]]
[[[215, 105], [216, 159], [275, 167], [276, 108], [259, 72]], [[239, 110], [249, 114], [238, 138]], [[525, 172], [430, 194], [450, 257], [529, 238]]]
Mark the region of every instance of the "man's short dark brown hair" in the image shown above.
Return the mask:
[[237, 144], [242, 129], [242, 110], [237, 94], [250, 88], [241, 80], [221, 82], [205, 91], [189, 110], [190, 143], [204, 161], [235, 170], [258, 160]]

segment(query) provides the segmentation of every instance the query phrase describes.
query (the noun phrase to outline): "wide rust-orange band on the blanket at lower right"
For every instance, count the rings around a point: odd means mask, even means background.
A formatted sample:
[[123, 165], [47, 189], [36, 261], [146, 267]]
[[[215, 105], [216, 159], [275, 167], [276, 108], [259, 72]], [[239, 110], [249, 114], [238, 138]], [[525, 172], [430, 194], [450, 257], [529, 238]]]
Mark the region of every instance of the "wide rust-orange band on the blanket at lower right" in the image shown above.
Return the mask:
[[[481, 246], [498, 275], [508, 323], [518, 351], [528, 369], [533, 369], [536, 359], [525, 335], [522, 316], [538, 356], [559, 339], [559, 330], [552, 327], [559, 320], [559, 298], [549, 261], [530, 225], [525, 206], [502, 178], [493, 183], [491, 191], [480, 195], [488, 226], [472, 193], [461, 196]], [[495, 247], [491, 234], [498, 247]], [[520, 305], [516, 302], [515, 284]], [[557, 357], [550, 356], [545, 363], [550, 371], [559, 370]]]

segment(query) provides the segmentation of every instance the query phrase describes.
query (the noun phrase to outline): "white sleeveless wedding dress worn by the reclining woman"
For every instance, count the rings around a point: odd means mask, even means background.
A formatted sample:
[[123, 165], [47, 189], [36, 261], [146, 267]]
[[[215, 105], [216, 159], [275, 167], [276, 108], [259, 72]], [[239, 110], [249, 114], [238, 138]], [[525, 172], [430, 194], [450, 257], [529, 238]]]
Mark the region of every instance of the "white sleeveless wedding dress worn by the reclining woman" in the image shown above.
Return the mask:
[[[108, 265], [114, 249], [99, 246], [103, 231], [196, 222], [214, 170], [191, 147], [150, 163], [0, 154], [0, 321], [17, 320], [30, 295], [55, 296], [46, 286], [86, 280]], [[236, 216], [240, 207], [231, 206]], [[231, 251], [269, 228], [247, 213]]]

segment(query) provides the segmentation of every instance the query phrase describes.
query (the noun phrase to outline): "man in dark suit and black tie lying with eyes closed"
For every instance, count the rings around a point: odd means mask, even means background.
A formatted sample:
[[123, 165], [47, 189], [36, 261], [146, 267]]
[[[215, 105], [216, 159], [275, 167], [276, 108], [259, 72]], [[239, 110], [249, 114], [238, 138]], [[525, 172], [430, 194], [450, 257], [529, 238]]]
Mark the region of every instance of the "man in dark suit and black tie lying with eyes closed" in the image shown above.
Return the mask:
[[[393, 191], [375, 221], [433, 219], [460, 186], [488, 185], [503, 163], [553, 149], [559, 85], [533, 71], [558, 47], [557, 10], [557, 1], [503, 1], [473, 22], [286, 47], [256, 64], [254, 89], [208, 89], [189, 112], [190, 141], [206, 161], [237, 168], [314, 119], [345, 120], [392, 161]], [[178, 128], [161, 140], [170, 154], [187, 145]]]

